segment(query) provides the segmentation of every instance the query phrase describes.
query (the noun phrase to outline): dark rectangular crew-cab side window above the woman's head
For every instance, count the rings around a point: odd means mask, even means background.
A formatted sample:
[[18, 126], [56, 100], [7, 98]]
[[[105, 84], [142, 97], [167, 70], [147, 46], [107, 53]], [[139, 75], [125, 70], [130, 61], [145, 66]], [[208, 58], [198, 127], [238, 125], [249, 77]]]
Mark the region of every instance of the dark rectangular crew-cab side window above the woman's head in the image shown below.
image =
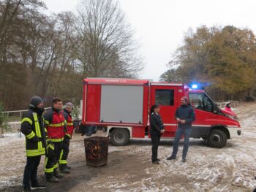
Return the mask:
[[170, 105], [174, 104], [174, 90], [157, 89], [155, 95], [155, 103], [158, 105]]

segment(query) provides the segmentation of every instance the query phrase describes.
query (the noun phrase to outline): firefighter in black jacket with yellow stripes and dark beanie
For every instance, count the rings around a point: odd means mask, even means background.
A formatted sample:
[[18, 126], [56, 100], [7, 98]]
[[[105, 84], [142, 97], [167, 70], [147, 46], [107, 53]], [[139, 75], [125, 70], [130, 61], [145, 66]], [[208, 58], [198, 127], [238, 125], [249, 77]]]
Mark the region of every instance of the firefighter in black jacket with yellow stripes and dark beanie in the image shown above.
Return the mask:
[[26, 166], [23, 175], [23, 191], [37, 188], [46, 188], [39, 185], [37, 180], [37, 167], [41, 155], [45, 155], [45, 130], [43, 127], [42, 113], [43, 102], [39, 96], [30, 100], [29, 111], [24, 112], [21, 120], [20, 131], [26, 136]]

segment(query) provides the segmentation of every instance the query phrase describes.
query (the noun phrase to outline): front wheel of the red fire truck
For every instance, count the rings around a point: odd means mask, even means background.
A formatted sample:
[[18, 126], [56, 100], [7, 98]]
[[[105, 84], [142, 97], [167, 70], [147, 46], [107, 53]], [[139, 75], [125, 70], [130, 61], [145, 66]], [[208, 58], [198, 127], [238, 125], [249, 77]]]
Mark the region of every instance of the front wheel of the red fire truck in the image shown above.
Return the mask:
[[227, 135], [224, 131], [214, 129], [210, 132], [208, 137], [208, 145], [210, 147], [222, 148], [227, 143]]

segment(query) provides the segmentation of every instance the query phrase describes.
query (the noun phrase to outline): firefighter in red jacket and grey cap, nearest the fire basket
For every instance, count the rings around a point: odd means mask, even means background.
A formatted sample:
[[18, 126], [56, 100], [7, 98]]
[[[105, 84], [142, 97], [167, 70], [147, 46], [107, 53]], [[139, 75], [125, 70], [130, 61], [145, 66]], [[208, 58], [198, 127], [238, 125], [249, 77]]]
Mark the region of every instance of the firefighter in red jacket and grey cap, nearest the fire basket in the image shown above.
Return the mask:
[[64, 105], [64, 118], [67, 122], [67, 131], [63, 141], [63, 150], [61, 150], [61, 158], [59, 160], [59, 169], [63, 173], [69, 173], [71, 167], [67, 166], [67, 156], [69, 155], [69, 142], [72, 138], [74, 125], [72, 121], [71, 112], [73, 110], [74, 105], [71, 102], [67, 102]]

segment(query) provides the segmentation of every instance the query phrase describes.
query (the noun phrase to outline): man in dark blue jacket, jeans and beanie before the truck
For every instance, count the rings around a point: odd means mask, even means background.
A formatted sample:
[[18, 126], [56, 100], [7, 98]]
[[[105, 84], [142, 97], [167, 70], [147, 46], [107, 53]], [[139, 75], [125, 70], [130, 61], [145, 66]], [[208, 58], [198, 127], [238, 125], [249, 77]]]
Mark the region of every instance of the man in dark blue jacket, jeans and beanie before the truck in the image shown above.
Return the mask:
[[181, 98], [181, 106], [176, 110], [176, 120], [178, 128], [173, 143], [173, 153], [167, 160], [176, 159], [178, 153], [179, 141], [184, 135], [184, 147], [182, 152], [182, 162], [186, 162], [187, 151], [189, 150], [189, 137], [192, 132], [192, 122], [195, 120], [195, 112], [193, 107], [189, 104], [189, 99], [186, 96]]

